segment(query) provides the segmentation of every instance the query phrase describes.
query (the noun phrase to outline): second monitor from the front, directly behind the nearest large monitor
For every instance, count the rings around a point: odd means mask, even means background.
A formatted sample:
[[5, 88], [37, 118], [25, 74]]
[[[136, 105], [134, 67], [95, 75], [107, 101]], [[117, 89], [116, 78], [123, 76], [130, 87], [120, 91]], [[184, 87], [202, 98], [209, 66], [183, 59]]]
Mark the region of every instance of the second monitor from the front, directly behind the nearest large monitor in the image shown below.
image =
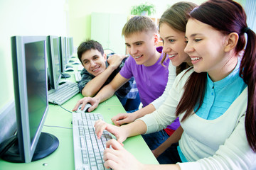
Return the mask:
[[58, 89], [61, 78], [59, 38], [47, 36], [49, 89]]

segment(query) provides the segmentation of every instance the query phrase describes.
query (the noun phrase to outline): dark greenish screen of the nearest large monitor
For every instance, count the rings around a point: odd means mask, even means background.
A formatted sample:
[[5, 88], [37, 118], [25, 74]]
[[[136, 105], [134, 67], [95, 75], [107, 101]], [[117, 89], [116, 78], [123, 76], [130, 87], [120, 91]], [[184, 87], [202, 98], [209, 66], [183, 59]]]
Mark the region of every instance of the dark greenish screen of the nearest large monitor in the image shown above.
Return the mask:
[[28, 95], [28, 119], [31, 143], [48, 107], [46, 97], [45, 42], [25, 44], [26, 89]]

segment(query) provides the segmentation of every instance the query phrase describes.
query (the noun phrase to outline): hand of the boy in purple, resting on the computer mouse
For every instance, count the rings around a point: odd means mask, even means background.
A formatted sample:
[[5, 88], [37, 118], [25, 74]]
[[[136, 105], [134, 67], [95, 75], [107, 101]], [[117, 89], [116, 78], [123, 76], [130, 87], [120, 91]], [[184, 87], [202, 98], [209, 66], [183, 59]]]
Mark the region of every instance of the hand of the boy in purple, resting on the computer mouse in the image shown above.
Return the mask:
[[82, 104], [81, 110], [84, 109], [86, 103], [90, 103], [90, 104], [92, 105], [92, 106], [88, 109], [88, 112], [91, 112], [91, 111], [95, 110], [95, 108], [97, 108], [97, 106], [99, 105], [100, 101], [97, 100], [97, 98], [84, 97], [84, 98], [80, 99], [80, 100], [75, 104], [75, 107], [73, 108], [72, 111], [78, 111], [78, 107], [80, 106], [80, 104]]

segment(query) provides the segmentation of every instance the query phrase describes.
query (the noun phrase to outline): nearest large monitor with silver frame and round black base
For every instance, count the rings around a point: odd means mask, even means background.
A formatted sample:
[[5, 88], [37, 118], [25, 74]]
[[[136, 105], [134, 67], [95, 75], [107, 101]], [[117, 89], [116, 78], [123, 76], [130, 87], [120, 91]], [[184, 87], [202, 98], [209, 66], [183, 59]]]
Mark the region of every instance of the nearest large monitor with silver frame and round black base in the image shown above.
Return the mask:
[[58, 139], [41, 132], [48, 113], [46, 37], [11, 38], [17, 133], [1, 144], [8, 162], [32, 162], [58, 148]]

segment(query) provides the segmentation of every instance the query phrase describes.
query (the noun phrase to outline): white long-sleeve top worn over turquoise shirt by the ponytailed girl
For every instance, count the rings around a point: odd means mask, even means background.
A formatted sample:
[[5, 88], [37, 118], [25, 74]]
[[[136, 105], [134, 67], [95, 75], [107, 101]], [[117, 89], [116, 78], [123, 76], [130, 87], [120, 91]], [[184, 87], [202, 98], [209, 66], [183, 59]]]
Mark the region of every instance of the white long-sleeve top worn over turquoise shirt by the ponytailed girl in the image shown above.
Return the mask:
[[[176, 119], [176, 106], [193, 69], [185, 72], [176, 77], [164, 104], [154, 113], [140, 118], [146, 123], [146, 133], [159, 131]], [[193, 114], [181, 122], [184, 131], [179, 146], [188, 160], [178, 163], [181, 169], [250, 169], [256, 154], [245, 135], [246, 108], [247, 88], [219, 118], [205, 120]], [[180, 120], [183, 115], [179, 115]]]

